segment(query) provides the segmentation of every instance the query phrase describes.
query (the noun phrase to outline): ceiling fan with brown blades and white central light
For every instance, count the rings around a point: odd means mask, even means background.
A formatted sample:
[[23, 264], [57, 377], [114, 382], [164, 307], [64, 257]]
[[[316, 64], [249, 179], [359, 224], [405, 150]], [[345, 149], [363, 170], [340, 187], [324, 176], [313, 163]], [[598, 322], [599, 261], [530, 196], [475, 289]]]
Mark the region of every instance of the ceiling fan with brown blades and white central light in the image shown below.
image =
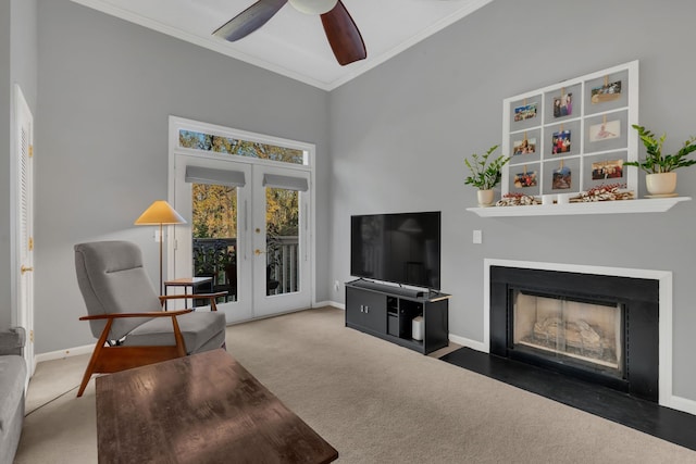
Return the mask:
[[239, 40], [263, 26], [288, 2], [302, 13], [321, 15], [328, 45], [341, 66], [368, 57], [360, 30], [340, 0], [258, 0], [213, 35], [231, 42]]

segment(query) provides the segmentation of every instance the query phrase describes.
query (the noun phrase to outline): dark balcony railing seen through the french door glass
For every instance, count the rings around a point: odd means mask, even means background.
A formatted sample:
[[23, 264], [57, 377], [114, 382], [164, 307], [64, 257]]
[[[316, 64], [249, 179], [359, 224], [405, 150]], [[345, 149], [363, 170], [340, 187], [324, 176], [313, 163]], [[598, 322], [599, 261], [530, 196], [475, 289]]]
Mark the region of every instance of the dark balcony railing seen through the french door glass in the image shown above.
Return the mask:
[[[213, 278], [213, 289], [237, 294], [237, 239], [195, 238], [194, 275]], [[274, 237], [266, 250], [266, 294], [299, 289], [299, 246], [297, 236]]]

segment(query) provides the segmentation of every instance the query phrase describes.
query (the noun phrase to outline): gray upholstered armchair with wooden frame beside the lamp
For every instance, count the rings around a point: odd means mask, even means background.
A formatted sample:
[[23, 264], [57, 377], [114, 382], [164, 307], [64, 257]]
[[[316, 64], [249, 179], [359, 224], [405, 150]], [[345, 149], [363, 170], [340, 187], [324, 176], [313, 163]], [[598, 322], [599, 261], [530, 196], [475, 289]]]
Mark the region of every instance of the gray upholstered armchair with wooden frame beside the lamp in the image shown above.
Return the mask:
[[[225, 347], [225, 315], [215, 299], [226, 292], [198, 293], [211, 311], [163, 311], [142, 267], [140, 249], [128, 241], [75, 246], [77, 284], [87, 306], [91, 333], [98, 339], [77, 397], [92, 374], [114, 373]], [[190, 296], [188, 296], [190, 298]]]

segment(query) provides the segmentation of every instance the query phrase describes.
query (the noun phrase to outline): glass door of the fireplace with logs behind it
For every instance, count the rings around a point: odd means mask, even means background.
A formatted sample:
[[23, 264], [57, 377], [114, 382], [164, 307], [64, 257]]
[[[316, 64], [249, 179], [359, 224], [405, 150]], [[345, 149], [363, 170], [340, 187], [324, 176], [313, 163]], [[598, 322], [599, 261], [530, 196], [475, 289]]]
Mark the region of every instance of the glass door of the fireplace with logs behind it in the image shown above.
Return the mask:
[[604, 304], [513, 290], [515, 351], [623, 378], [623, 311]]

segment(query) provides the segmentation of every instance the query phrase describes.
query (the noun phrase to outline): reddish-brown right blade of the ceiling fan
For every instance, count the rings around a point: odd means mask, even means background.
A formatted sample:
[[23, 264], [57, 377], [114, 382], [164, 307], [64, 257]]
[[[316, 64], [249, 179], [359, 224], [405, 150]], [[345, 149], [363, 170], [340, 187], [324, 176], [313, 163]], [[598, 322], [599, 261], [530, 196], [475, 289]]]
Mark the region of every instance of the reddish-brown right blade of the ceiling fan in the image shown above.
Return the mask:
[[322, 24], [334, 55], [341, 66], [368, 58], [360, 30], [340, 0], [333, 10], [322, 14]]

